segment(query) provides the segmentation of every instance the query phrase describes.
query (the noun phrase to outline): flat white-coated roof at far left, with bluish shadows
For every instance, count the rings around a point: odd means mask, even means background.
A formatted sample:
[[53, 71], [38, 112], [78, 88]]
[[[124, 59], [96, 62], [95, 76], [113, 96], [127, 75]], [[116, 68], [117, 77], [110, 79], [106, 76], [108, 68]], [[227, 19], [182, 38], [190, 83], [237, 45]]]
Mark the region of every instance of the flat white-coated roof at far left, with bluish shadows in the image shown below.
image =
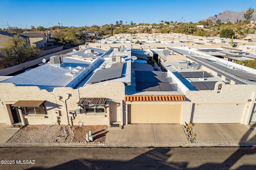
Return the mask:
[[[41, 89], [52, 91], [56, 87], [68, 85], [92, 64], [91, 61], [72, 57], [63, 57], [63, 62], [64, 67], [47, 63], [0, 83], [14, 83], [16, 86], [38, 86]], [[79, 80], [77, 81], [79, 82]]]

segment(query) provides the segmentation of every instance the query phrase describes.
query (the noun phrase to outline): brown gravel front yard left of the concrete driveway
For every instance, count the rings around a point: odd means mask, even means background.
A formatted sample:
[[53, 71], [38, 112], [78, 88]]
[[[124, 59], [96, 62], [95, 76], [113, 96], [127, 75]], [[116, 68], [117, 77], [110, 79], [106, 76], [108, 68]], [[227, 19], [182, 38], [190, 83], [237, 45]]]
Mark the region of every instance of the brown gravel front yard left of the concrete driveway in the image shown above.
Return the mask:
[[[8, 143], [105, 143], [107, 125], [26, 125]], [[92, 131], [93, 141], [86, 141]]]

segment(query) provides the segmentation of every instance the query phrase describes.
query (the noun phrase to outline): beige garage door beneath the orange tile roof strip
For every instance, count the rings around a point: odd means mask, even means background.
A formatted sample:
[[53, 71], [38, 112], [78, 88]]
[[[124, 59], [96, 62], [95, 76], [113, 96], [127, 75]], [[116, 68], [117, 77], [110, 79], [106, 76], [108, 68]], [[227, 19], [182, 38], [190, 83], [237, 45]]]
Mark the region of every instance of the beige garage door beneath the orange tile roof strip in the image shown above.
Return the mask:
[[181, 105], [132, 104], [129, 112], [128, 123], [180, 123]]

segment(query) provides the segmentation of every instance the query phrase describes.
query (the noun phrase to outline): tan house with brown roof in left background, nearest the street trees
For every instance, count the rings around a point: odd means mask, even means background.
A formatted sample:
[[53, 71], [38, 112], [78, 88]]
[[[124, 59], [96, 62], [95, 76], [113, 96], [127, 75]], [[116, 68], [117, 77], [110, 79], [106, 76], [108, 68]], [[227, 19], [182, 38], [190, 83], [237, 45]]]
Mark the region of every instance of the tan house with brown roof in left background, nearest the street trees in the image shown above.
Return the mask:
[[45, 33], [20, 33], [20, 35], [29, 37], [31, 47], [47, 46], [47, 39]]

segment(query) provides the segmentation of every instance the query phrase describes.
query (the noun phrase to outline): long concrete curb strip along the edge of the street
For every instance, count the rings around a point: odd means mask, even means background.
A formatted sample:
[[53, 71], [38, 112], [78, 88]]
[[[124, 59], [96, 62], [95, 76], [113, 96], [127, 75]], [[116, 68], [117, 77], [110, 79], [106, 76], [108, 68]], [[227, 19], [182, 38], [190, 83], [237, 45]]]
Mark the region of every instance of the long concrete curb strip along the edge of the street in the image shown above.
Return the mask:
[[256, 147], [256, 143], [0, 143], [3, 147]]

